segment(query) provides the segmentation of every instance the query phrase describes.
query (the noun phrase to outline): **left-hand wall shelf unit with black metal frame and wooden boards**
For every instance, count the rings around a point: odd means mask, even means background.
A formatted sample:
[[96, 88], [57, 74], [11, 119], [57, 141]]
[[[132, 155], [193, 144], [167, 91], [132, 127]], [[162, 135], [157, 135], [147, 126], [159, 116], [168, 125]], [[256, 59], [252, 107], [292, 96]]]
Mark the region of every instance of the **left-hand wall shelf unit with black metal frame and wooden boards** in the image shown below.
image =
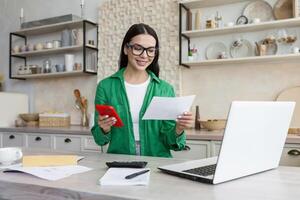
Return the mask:
[[[96, 32], [96, 44], [90, 45], [87, 43], [87, 29], [92, 28]], [[73, 46], [63, 46], [59, 48], [42, 49], [42, 50], [32, 50], [23, 51], [18, 53], [13, 53], [13, 38], [21, 38], [24, 44], [27, 45], [27, 38], [29, 36], [38, 36], [42, 34], [51, 34], [55, 32], [60, 32], [64, 29], [82, 29], [83, 31], [83, 44], [73, 45]], [[97, 74], [97, 63], [98, 63], [98, 24], [88, 21], [88, 20], [76, 20], [63, 23], [56, 23], [51, 25], [38, 26], [33, 28], [21, 29], [10, 33], [10, 48], [9, 48], [9, 78], [10, 79], [33, 79], [33, 78], [47, 78], [47, 77], [66, 77], [66, 76], [80, 76], [80, 75], [96, 75]], [[92, 51], [97, 54], [94, 70], [88, 68], [87, 64], [87, 53]], [[39, 74], [15, 74], [13, 73], [13, 59], [21, 59], [24, 66], [27, 65], [28, 59], [38, 56], [57, 56], [59, 54], [68, 54], [71, 52], [82, 52], [82, 69], [74, 71], [64, 71], [64, 72], [51, 72], [51, 73], [39, 73]]]

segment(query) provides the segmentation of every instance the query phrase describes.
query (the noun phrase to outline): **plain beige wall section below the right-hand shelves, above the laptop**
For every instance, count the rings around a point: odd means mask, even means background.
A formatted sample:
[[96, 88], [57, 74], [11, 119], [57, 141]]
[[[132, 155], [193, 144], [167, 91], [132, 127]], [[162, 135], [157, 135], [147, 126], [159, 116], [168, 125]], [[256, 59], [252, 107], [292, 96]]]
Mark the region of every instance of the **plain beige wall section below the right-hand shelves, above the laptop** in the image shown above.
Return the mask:
[[300, 85], [299, 74], [297, 62], [194, 67], [182, 70], [182, 94], [197, 95], [200, 118], [226, 118], [231, 101], [275, 100]]

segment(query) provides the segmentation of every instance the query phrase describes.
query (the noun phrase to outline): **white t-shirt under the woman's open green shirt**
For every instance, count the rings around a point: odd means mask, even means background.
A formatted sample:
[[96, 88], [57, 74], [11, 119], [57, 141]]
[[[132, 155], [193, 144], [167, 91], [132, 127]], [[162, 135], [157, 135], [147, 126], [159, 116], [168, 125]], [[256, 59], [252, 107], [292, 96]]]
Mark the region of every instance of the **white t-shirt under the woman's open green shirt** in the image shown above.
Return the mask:
[[129, 101], [135, 141], [140, 141], [139, 115], [149, 82], [150, 76], [146, 82], [141, 84], [130, 84], [125, 81], [125, 88]]

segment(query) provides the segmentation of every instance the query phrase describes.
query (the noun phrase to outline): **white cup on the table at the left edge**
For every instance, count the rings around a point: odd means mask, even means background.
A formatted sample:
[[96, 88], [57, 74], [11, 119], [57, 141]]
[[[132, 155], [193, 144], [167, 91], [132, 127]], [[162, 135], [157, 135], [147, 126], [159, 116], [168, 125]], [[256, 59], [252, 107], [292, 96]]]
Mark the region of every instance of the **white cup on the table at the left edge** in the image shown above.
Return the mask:
[[11, 165], [23, 157], [22, 150], [17, 147], [0, 148], [0, 164]]

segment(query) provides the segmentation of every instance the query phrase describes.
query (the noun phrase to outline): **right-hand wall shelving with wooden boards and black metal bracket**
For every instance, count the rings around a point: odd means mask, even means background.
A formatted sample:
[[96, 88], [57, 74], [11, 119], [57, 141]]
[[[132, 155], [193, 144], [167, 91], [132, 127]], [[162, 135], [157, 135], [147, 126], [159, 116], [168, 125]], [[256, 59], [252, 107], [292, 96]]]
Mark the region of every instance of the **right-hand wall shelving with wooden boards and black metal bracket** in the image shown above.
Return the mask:
[[[205, 9], [215, 6], [223, 6], [226, 4], [234, 4], [246, 2], [249, 0], [182, 0], [179, 1], [179, 65], [184, 67], [221, 65], [221, 64], [239, 64], [239, 63], [258, 63], [258, 62], [279, 62], [288, 60], [300, 60], [300, 54], [280, 54], [268, 56], [251, 56], [242, 58], [228, 58], [215, 60], [201, 60], [197, 62], [183, 61], [182, 39], [187, 41], [188, 50], [190, 48], [191, 39], [200, 37], [214, 37], [236, 33], [258, 32], [270, 29], [282, 29], [300, 26], [300, 18], [289, 18], [282, 20], [274, 20], [267, 22], [260, 22], [256, 24], [234, 25], [232, 27], [199, 29], [199, 30], [183, 30], [183, 11], [186, 13], [192, 9]], [[188, 16], [186, 16], [188, 17]], [[187, 54], [187, 52], [186, 52]]]

